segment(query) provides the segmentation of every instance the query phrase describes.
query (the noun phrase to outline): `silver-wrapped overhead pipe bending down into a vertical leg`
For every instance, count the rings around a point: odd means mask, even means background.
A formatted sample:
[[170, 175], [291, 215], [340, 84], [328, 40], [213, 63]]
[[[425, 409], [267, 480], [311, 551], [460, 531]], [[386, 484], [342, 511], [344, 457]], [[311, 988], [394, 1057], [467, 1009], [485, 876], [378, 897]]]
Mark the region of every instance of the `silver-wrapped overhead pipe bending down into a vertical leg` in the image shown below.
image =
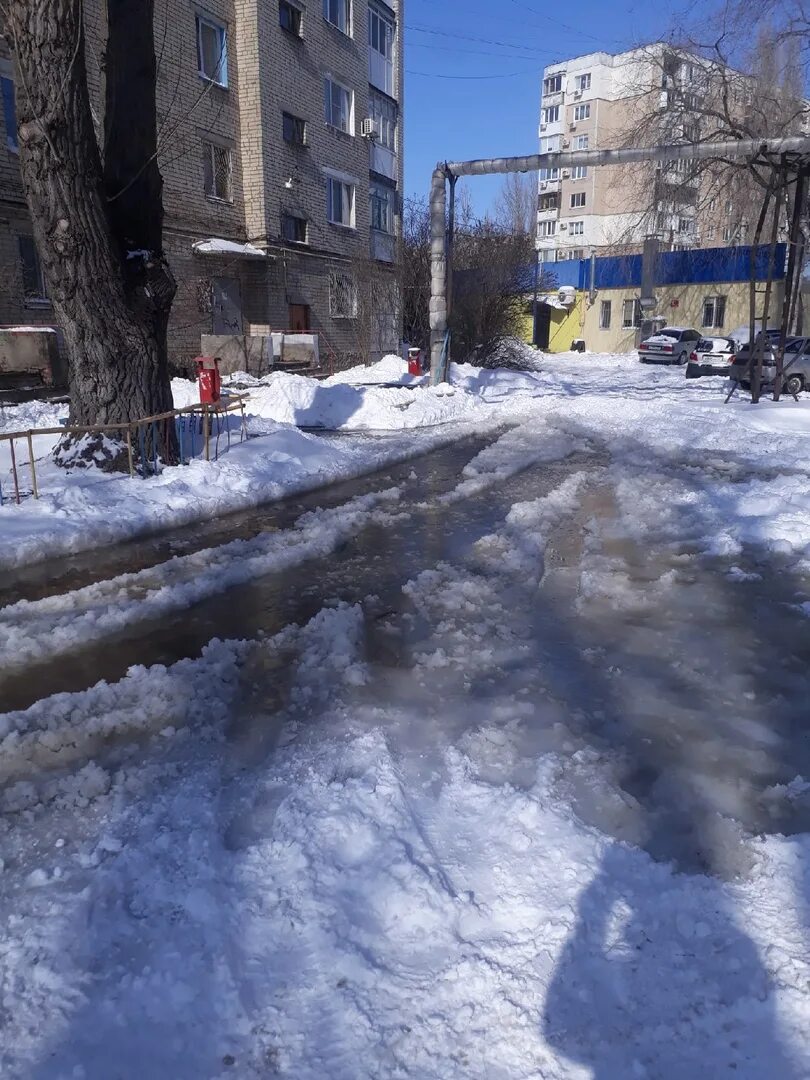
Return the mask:
[[446, 181], [450, 176], [492, 176], [534, 173], [539, 168], [575, 165], [626, 165], [636, 161], [694, 161], [704, 158], [751, 158], [760, 153], [810, 153], [810, 137], [739, 139], [731, 143], [698, 143], [678, 146], [627, 147], [621, 150], [569, 150], [534, 153], [525, 158], [481, 158], [476, 161], [440, 162], [430, 189], [430, 352], [433, 383], [443, 382], [442, 352], [447, 334]]

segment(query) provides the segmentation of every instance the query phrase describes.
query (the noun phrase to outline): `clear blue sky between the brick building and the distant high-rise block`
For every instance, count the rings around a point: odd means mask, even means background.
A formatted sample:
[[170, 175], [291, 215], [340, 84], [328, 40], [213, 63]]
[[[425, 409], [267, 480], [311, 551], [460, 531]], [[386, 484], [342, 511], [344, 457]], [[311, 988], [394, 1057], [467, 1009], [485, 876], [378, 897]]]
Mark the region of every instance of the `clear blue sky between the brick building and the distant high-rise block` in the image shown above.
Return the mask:
[[[427, 193], [440, 159], [537, 152], [543, 67], [659, 37], [671, 10], [672, 0], [405, 0], [405, 193]], [[500, 184], [471, 181], [476, 210]]]

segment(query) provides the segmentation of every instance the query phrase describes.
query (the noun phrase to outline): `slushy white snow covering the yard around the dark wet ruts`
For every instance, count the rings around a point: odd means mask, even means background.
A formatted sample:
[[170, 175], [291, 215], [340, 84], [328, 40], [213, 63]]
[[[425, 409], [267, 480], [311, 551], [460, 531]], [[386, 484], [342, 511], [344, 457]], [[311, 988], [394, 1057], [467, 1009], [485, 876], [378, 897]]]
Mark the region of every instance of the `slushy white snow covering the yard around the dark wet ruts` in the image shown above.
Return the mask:
[[[537, 366], [460, 365], [443, 393], [399, 357], [325, 387], [276, 373], [252, 389], [266, 434], [219, 462], [62, 477], [0, 511], [4, 549], [69, 550], [70, 529], [112, 540], [403, 459], [411, 409], [443, 417], [419, 447], [491, 433], [432, 499], [359, 496], [0, 610], [3, 672], [69, 663], [435, 514], [393, 609], [328, 599], [0, 715], [3, 1077], [810, 1075], [810, 835], [762, 826], [810, 820], [784, 724], [806, 684], [758, 671], [801, 616], [738, 600], [802, 580], [808, 403], [724, 405], [723, 380], [635, 355]], [[343, 431], [396, 427], [316, 438], [275, 413], [349, 407]], [[465, 508], [484, 527], [434, 556]]]

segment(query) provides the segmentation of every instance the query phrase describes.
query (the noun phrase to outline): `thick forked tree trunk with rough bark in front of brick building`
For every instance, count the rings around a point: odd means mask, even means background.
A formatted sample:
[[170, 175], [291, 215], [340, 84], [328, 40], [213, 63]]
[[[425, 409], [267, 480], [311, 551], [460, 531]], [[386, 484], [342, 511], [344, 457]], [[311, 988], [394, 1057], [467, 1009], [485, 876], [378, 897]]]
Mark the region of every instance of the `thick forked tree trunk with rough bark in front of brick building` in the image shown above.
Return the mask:
[[6, 3], [5, 36], [21, 77], [21, 173], [65, 333], [75, 424], [129, 422], [172, 407], [166, 325], [175, 286], [162, 255], [152, 5], [108, 0], [107, 106], [118, 113], [118, 133], [105, 173], [82, 0]]

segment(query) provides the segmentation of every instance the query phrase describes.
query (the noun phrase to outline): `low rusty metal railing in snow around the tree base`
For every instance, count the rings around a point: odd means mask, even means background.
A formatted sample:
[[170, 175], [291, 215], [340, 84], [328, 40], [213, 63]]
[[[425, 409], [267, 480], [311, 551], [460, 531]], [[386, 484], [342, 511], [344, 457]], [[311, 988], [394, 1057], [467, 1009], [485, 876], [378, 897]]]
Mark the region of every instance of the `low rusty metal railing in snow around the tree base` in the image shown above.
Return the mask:
[[[117, 433], [119, 440], [126, 447], [126, 464], [130, 476], [154, 476], [159, 473], [163, 461], [171, 457], [172, 427], [174, 426], [177, 445], [179, 447], [180, 464], [188, 464], [198, 456], [204, 454], [205, 460], [211, 460], [212, 441], [214, 443], [214, 460], [219, 458], [219, 440], [225, 428], [227, 448], [231, 445], [231, 430], [227, 422], [228, 416], [234, 413], [241, 415], [240, 443], [247, 437], [245, 420], [245, 401], [247, 394], [234, 394], [224, 399], [216, 405], [187, 405], [185, 408], [172, 409], [168, 413], [159, 413], [156, 416], [146, 416], [140, 420], [132, 420], [130, 423], [96, 423], [87, 427], [58, 427], [58, 428], [31, 428], [28, 431], [0, 432], [0, 443], [9, 443], [11, 451], [11, 472], [14, 482], [14, 501], [17, 505], [28, 492], [21, 487], [19, 471], [25, 462], [17, 462], [15, 444], [23, 441], [28, 446], [28, 467], [31, 475], [31, 494], [35, 499], [39, 499], [39, 485], [37, 483], [37, 463], [33, 457], [33, 440], [40, 435], [109, 435]], [[226, 423], [222, 424], [222, 419]], [[161, 444], [163, 455], [161, 456]], [[189, 453], [187, 453], [189, 451]], [[8, 501], [3, 496], [2, 483], [0, 482], [0, 507]]]

